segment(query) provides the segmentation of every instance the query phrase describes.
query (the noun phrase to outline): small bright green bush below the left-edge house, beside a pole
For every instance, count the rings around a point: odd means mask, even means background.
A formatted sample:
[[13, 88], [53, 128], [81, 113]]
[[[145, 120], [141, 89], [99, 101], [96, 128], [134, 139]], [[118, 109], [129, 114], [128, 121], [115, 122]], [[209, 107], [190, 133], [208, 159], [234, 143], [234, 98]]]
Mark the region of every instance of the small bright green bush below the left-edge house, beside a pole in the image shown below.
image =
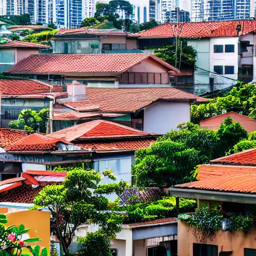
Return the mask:
[[18, 115], [18, 119], [16, 121], [11, 121], [8, 127], [12, 129], [26, 130], [28, 133], [33, 133], [35, 131], [46, 133], [48, 116], [48, 108], [43, 108], [39, 112], [31, 109], [23, 109]]

